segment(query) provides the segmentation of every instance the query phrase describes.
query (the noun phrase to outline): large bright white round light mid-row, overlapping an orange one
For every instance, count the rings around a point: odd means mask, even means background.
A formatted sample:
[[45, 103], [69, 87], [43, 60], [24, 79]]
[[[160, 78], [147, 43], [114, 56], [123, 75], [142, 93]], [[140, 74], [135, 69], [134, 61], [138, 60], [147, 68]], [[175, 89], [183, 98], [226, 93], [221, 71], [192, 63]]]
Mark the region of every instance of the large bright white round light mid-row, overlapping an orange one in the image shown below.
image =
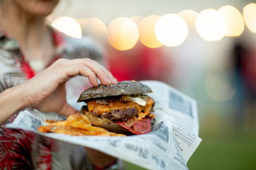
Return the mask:
[[176, 14], [161, 16], [156, 22], [156, 38], [165, 46], [178, 46], [187, 38], [186, 21]]

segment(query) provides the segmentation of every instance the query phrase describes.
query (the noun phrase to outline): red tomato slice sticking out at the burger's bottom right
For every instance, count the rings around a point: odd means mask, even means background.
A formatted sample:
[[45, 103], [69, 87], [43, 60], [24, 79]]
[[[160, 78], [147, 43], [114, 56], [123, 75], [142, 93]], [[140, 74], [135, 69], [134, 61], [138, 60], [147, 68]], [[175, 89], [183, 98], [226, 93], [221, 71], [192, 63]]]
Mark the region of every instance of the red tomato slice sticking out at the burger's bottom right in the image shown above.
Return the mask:
[[123, 121], [114, 121], [114, 123], [117, 123], [118, 125], [122, 126], [123, 128], [129, 130], [136, 135], [147, 134], [151, 132], [150, 118], [144, 118], [142, 120], [136, 121], [136, 123], [134, 123], [134, 125], [132, 126], [133, 129], [127, 127]]

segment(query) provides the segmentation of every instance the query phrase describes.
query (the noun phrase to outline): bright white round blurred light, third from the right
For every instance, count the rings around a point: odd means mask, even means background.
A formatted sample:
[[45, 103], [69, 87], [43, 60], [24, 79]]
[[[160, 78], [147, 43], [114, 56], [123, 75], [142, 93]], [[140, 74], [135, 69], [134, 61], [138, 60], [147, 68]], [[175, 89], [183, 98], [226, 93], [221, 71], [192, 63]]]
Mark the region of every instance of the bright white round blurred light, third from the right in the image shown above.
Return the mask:
[[227, 32], [223, 16], [214, 9], [203, 10], [196, 18], [196, 30], [206, 41], [218, 41]]

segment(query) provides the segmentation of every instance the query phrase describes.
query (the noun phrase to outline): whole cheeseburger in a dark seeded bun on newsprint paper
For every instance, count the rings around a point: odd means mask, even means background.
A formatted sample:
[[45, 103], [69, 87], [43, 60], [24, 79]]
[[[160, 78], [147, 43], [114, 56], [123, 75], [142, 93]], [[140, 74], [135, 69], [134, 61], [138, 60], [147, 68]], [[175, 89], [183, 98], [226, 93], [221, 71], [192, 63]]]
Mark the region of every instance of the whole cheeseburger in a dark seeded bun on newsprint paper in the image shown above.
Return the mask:
[[154, 122], [153, 92], [138, 81], [121, 81], [117, 85], [99, 85], [85, 90], [78, 102], [85, 102], [81, 113], [91, 124], [124, 135], [149, 133]]

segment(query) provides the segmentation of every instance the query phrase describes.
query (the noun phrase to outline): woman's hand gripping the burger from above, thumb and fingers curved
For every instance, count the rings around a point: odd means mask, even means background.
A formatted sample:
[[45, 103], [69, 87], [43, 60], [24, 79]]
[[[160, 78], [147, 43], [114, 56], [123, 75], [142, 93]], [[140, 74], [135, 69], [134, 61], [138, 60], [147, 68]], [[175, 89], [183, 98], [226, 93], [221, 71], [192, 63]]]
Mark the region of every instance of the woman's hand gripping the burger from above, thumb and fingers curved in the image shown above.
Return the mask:
[[76, 75], [88, 77], [92, 86], [117, 84], [113, 75], [89, 58], [59, 59], [52, 66], [22, 84], [24, 108], [33, 107], [42, 112], [57, 112], [69, 116], [76, 111], [66, 102], [65, 82]]

